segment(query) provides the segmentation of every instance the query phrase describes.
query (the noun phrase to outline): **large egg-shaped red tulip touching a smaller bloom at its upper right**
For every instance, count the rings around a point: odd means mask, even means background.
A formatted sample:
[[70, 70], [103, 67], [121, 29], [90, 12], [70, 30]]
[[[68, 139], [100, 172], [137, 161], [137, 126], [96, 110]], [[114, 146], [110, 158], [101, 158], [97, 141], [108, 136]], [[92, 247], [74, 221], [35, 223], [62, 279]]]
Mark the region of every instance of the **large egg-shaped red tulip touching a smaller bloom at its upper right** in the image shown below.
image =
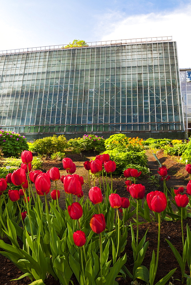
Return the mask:
[[[38, 175], [35, 181], [36, 192], [38, 195], [42, 196], [44, 193], [48, 194], [50, 191], [50, 177], [46, 173]], [[39, 194], [40, 193], [40, 194]]]

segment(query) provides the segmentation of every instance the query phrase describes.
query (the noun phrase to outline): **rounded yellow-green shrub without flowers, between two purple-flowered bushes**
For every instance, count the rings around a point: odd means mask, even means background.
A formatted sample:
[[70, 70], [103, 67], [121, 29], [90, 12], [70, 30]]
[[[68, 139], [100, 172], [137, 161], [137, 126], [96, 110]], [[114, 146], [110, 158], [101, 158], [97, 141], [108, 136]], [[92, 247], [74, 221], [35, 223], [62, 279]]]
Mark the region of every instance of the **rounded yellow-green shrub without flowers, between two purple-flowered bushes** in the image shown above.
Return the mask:
[[33, 151], [40, 154], [52, 154], [55, 152], [63, 152], [67, 148], [67, 141], [64, 135], [56, 137], [45, 137], [34, 141]]

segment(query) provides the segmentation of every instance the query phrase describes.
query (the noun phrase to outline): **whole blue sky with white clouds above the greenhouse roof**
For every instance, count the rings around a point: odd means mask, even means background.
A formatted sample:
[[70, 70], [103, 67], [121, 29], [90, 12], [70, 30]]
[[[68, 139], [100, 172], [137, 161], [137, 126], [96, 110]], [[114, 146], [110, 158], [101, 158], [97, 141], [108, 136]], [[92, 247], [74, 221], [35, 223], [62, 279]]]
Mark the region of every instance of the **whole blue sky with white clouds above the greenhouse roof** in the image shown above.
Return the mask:
[[188, 1], [1, 0], [0, 7], [0, 50], [172, 35], [180, 67], [191, 67]]

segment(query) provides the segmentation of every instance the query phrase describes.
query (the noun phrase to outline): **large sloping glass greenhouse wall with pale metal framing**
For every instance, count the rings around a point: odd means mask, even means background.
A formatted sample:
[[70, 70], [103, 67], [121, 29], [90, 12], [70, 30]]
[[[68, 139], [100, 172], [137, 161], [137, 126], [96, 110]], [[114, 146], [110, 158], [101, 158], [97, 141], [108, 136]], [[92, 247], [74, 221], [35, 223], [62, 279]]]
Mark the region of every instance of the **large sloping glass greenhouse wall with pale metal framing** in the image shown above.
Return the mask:
[[1, 55], [0, 78], [2, 129], [184, 138], [176, 42]]

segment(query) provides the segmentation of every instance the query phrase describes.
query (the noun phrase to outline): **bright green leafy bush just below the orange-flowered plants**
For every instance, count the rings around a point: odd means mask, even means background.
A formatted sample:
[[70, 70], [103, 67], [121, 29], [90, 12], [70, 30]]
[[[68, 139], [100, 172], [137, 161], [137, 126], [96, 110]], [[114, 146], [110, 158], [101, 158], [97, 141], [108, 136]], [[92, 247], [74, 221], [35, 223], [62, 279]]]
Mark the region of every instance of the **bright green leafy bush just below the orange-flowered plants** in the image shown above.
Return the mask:
[[131, 150], [128, 152], [121, 152], [118, 150], [118, 148], [115, 148], [113, 150], [107, 150], [103, 153], [108, 153], [110, 160], [115, 161], [116, 170], [114, 174], [122, 174], [127, 168], [136, 168], [143, 173], [149, 172], [145, 151], [134, 152]]

